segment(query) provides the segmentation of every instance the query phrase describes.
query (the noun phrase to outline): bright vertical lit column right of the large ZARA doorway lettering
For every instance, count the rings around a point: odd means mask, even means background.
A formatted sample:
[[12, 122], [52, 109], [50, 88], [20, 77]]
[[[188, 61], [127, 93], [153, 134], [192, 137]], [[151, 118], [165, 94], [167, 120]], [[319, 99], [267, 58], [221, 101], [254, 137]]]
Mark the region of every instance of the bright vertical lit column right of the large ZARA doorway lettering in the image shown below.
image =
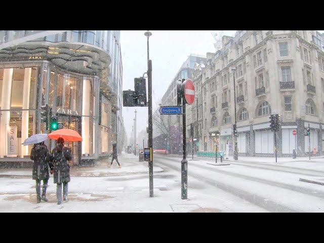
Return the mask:
[[90, 80], [83, 78], [82, 93], [82, 154], [89, 154]]

